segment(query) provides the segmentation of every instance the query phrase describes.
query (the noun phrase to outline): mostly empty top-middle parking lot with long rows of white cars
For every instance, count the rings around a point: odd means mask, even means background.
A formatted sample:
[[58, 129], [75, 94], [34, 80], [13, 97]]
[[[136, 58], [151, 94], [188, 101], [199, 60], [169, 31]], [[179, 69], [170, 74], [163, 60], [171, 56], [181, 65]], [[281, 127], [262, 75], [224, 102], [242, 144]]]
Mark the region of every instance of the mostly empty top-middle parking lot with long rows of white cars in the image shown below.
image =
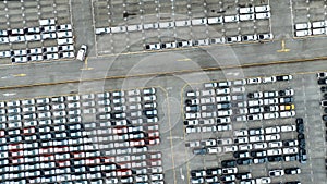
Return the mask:
[[274, 38], [268, 1], [94, 1], [98, 54]]

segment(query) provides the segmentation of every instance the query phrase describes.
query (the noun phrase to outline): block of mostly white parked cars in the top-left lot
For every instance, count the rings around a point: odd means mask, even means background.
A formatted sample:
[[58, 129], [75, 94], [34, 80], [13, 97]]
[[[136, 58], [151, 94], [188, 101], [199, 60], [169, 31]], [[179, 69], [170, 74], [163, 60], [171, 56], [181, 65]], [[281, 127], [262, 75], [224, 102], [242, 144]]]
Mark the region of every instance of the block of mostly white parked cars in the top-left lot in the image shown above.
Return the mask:
[[57, 39], [58, 46], [0, 51], [0, 58], [13, 63], [75, 58], [71, 24], [56, 25], [55, 19], [39, 20], [39, 27], [0, 30], [0, 44]]

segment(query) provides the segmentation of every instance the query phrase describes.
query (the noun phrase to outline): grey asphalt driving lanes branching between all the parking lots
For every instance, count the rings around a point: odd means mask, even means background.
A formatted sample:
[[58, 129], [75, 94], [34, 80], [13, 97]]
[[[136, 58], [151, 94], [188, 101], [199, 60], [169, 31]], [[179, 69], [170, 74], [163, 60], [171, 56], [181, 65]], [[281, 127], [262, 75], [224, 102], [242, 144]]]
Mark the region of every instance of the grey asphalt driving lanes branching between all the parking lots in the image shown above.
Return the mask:
[[[185, 85], [210, 79], [294, 74], [289, 85], [295, 90], [296, 114], [305, 119], [310, 157], [307, 164], [301, 164], [303, 174], [298, 180], [322, 184], [326, 181], [323, 161], [326, 155], [325, 125], [320, 121], [320, 93], [315, 73], [326, 70], [327, 38], [293, 39], [290, 1], [270, 1], [274, 41], [98, 58], [95, 57], [96, 41], [101, 40], [96, 40], [94, 36], [92, 2], [72, 0], [71, 9], [76, 47], [88, 45], [87, 66], [93, 70], [81, 70], [85, 65], [80, 61], [0, 65], [0, 100], [159, 86], [168, 97], [162, 97], [160, 101], [161, 118], [166, 122], [160, 131], [166, 139], [164, 145], [168, 147], [164, 152], [165, 177], [168, 183], [181, 184], [187, 183], [190, 168], [218, 163], [213, 161], [218, 160], [215, 157], [193, 157], [184, 147], [181, 94]], [[289, 52], [278, 52], [282, 39]], [[263, 170], [267, 170], [266, 165], [251, 168], [258, 175]]]

